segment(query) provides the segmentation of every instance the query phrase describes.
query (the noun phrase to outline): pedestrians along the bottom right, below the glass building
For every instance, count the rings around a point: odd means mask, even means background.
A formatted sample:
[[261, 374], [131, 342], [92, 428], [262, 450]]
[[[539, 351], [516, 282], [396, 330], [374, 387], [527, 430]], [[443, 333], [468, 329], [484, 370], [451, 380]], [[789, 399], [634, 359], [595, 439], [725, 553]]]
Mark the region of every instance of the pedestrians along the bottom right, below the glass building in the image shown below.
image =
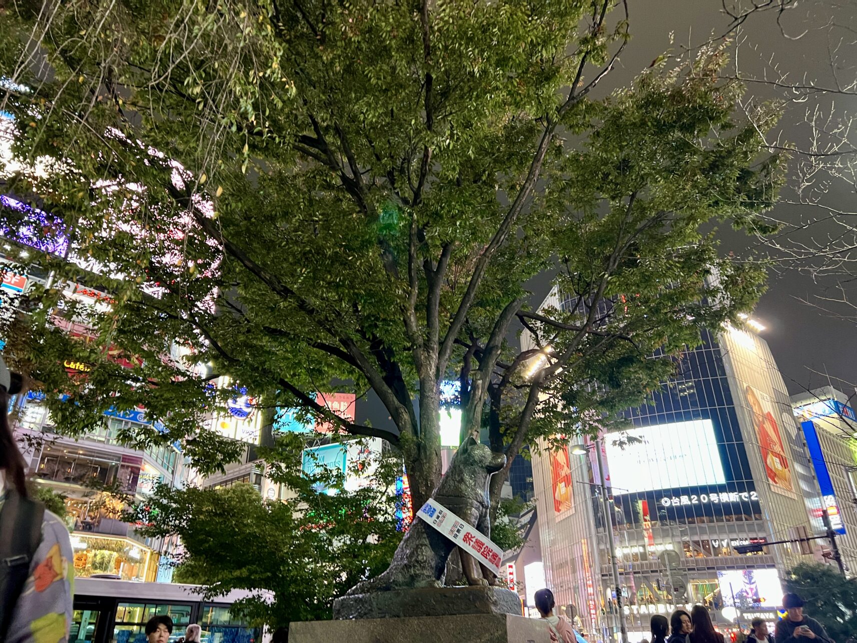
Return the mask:
[[[776, 623], [776, 631], [770, 634], [764, 618], [752, 619], [750, 634], [740, 643], [835, 643], [821, 623], [803, 613], [804, 600], [797, 594], [782, 597], [787, 614]], [[536, 609], [547, 622], [550, 640], [554, 643], [586, 643], [581, 634], [565, 616], [554, 614], [554, 594], [549, 589], [536, 592]], [[694, 605], [690, 612], [675, 610], [667, 620], [656, 614], [650, 622], [651, 641], [641, 643], [726, 643], [723, 634], [717, 632], [708, 609]], [[154, 643], [154, 642], [151, 642]], [[848, 643], [848, 642], [846, 642]]]

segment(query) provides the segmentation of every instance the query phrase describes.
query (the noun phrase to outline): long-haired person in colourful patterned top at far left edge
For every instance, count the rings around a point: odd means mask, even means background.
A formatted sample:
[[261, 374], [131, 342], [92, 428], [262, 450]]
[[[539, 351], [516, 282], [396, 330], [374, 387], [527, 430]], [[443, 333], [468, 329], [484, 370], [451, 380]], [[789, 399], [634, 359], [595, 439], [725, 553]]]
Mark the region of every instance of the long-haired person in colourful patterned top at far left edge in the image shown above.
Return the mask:
[[74, 557], [63, 521], [27, 493], [24, 461], [6, 414], [21, 376], [0, 358], [0, 640], [69, 640]]

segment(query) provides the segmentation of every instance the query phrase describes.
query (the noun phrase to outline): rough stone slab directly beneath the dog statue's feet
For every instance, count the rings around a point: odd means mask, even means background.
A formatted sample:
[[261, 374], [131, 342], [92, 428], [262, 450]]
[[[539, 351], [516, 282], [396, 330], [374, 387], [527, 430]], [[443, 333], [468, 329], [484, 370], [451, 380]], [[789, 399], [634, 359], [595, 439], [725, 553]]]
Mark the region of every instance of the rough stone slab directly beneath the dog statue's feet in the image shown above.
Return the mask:
[[520, 613], [521, 599], [505, 587], [423, 587], [346, 594], [333, 601], [333, 618], [346, 620]]

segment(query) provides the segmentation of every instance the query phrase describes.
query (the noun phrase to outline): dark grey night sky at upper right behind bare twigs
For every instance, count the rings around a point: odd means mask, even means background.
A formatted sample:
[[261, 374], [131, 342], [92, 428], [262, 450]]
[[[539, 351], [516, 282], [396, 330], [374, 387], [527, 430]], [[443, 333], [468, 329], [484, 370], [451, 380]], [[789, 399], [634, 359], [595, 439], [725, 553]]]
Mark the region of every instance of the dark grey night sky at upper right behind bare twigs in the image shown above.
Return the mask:
[[[749, 4], [748, 2], [746, 4]], [[770, 75], [769, 62], [779, 65], [781, 71], [788, 71], [792, 81], [818, 81], [818, 86], [833, 84], [829, 45], [836, 45], [838, 39], [847, 36], [842, 45], [842, 59], [839, 74], [841, 80], [853, 81], [855, 76], [854, 63], [857, 63], [857, 46], [850, 45], [857, 40], [857, 19], [854, 18], [853, 5], [844, 3], [841, 9], [831, 12], [834, 3], [799, 3], [791, 11], [782, 15], [782, 27], [789, 37], [809, 30], [800, 39], [792, 40], [782, 35], [776, 23], [776, 14], [767, 13], [754, 15], [746, 21], [740, 34], [742, 45], [739, 50], [739, 60], [746, 72], [762, 77], [767, 69]], [[621, 57], [621, 67], [615, 70], [615, 76], [609, 82], [609, 87], [626, 84], [640, 69], [650, 63], [663, 51], [673, 48], [680, 50], [680, 45], [699, 45], [710, 38], [712, 30], [717, 35], [725, 33], [728, 17], [722, 14], [721, 0], [644, 0], [629, 3], [631, 17], [632, 40]], [[847, 29], [824, 29], [824, 25], [835, 21]], [[674, 33], [674, 44], [670, 45], [669, 33]], [[829, 38], [830, 34], [830, 38]], [[848, 61], [849, 59], [849, 61]], [[843, 65], [842, 62], [848, 61]], [[773, 97], [765, 93], [763, 85], [753, 85], [749, 91], [758, 95]], [[786, 138], [802, 142], [806, 127], [801, 128], [806, 108], [821, 101], [826, 107], [829, 99], [811, 99], [805, 103], [788, 106], [783, 118], [782, 127]], [[842, 111], [857, 112], [857, 97], [836, 98], [836, 108]], [[854, 199], [853, 188], [849, 191], [847, 185], [834, 185], [830, 189], [826, 203], [831, 207], [842, 210], [857, 210], [857, 200]], [[773, 216], [780, 220], [798, 222], [802, 218], [818, 214], [807, 208], [778, 206]], [[855, 220], [857, 224], [857, 220]], [[836, 226], [817, 225], [810, 228], [800, 237], [808, 241], [809, 237], [826, 234], [841, 234]], [[726, 231], [723, 234], [722, 249], [736, 251], [752, 246], [755, 239]], [[854, 267], [857, 273], [857, 265]], [[844, 382], [833, 382], [837, 388], [848, 394], [854, 394], [857, 384], [857, 328], [854, 322], [845, 322], [824, 316], [795, 297], [812, 299], [824, 294], [824, 287], [830, 286], [831, 279], [822, 284], [813, 282], [811, 276], [800, 273], [793, 265], [782, 267], [771, 273], [769, 290], [758, 304], [756, 317], [766, 327], [761, 336], [770, 344], [777, 365], [782, 371], [783, 379], [791, 393], [798, 393], [805, 388], [818, 388], [828, 384], [826, 376], [813, 373], [827, 373], [831, 378], [841, 378]], [[848, 286], [846, 286], [848, 287]], [[829, 291], [830, 294], [830, 291]], [[850, 294], [857, 301], [857, 281], [850, 285]], [[854, 311], [857, 312], [857, 311]]]

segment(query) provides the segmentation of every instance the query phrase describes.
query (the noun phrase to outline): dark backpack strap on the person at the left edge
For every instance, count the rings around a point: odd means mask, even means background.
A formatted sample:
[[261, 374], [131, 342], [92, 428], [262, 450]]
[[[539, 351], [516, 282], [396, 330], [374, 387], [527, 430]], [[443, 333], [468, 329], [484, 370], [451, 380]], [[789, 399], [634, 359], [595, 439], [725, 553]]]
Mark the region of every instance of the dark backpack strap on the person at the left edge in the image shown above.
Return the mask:
[[15, 604], [42, 541], [45, 505], [12, 489], [0, 509], [0, 642], [6, 640]]

